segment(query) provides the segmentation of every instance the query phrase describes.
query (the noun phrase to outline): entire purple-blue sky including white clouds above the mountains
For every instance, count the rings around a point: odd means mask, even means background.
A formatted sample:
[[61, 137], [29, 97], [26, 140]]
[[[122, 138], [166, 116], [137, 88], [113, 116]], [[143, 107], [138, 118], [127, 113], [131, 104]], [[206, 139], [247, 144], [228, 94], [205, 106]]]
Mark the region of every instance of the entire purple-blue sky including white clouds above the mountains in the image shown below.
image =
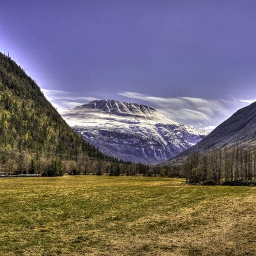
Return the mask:
[[211, 130], [256, 99], [255, 1], [4, 1], [10, 52], [62, 111], [144, 103]]

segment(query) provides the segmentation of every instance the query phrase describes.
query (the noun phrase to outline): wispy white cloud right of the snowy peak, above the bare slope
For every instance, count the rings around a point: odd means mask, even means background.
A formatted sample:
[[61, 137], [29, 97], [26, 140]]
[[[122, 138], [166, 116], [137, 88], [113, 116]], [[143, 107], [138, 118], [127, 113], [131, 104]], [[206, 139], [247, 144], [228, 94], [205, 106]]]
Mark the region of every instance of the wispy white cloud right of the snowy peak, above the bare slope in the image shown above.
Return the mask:
[[[118, 93], [140, 103], [146, 103], [175, 121], [212, 131], [245, 101], [236, 99], [207, 99], [197, 97], [156, 97], [144, 93], [125, 91]], [[139, 103], [139, 102], [138, 102]], [[243, 104], [241, 104], [243, 103]]]

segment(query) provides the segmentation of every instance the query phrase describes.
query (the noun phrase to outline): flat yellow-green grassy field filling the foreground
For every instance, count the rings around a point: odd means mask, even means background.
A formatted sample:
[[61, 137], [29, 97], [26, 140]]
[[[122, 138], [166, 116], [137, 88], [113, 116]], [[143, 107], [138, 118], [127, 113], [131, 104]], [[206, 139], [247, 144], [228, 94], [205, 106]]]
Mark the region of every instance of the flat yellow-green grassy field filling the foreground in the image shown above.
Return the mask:
[[0, 255], [255, 255], [256, 188], [111, 176], [0, 180]]

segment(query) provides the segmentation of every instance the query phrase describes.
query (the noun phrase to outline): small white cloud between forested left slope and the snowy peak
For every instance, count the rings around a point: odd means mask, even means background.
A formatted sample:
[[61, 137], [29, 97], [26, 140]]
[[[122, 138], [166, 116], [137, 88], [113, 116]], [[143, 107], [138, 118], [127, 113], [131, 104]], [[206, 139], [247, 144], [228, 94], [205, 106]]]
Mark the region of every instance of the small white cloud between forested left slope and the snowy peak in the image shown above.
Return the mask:
[[46, 98], [52, 103], [52, 105], [57, 108], [57, 110], [62, 113], [68, 108], [73, 108], [81, 105], [90, 100], [97, 100], [98, 98], [89, 96], [77, 96], [70, 91], [62, 90], [49, 90], [41, 89]]

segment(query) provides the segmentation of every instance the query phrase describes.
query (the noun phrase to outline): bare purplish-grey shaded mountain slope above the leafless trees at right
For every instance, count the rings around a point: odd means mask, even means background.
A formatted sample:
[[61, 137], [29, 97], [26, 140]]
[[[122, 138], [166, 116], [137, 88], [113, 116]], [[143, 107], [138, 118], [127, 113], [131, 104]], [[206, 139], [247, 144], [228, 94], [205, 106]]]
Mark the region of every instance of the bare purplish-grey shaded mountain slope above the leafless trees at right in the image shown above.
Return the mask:
[[167, 163], [181, 163], [194, 152], [236, 146], [256, 149], [256, 102], [237, 110], [202, 141]]

